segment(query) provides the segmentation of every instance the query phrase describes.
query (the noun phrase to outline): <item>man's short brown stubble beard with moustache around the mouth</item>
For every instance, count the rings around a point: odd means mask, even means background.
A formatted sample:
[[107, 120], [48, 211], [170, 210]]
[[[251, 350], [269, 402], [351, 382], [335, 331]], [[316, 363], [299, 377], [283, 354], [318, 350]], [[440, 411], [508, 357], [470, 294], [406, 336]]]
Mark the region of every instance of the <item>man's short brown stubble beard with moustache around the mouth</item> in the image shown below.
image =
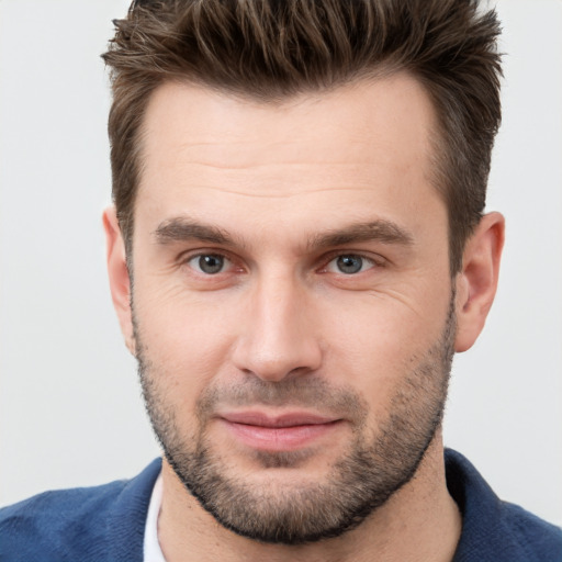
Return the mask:
[[[454, 295], [439, 340], [414, 366], [394, 391], [386, 418], [374, 430], [367, 425], [369, 408], [353, 390], [334, 389], [324, 379], [303, 376], [265, 382], [256, 376], [244, 385], [209, 387], [198, 400], [198, 427], [186, 436], [176, 412], [168, 407], [162, 372], [150, 362], [135, 323], [143, 394], [165, 457], [186, 488], [225, 528], [252, 540], [303, 544], [338, 537], [361, 524], [416, 473], [441, 425], [453, 357]], [[311, 483], [274, 477], [237, 477], [232, 461], [213, 450], [206, 426], [215, 405], [318, 407], [341, 412], [353, 420], [352, 439], [324, 481]], [[255, 451], [263, 471], [297, 469], [314, 451]], [[311, 460], [311, 462], [313, 462]]]

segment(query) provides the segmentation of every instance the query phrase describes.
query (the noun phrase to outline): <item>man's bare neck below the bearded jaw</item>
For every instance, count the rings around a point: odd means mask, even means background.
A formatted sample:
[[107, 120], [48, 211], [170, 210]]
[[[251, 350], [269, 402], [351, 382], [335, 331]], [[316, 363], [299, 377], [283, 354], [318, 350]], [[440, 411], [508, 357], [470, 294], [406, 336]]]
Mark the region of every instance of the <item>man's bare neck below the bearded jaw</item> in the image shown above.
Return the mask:
[[303, 546], [266, 544], [225, 529], [162, 463], [158, 539], [168, 562], [247, 560], [449, 562], [461, 516], [447, 491], [441, 435], [437, 435], [412, 481], [359, 527], [341, 537]]

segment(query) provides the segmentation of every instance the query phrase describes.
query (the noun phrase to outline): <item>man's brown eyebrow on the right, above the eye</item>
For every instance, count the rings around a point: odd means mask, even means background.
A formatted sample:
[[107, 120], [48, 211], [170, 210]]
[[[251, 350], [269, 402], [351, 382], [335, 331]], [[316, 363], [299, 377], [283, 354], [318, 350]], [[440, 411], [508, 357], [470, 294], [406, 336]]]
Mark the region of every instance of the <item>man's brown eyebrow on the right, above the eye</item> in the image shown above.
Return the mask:
[[360, 241], [381, 241], [383, 244], [413, 246], [414, 236], [396, 223], [378, 218], [368, 223], [351, 224], [344, 228], [315, 235], [308, 240], [308, 247], [325, 248]]

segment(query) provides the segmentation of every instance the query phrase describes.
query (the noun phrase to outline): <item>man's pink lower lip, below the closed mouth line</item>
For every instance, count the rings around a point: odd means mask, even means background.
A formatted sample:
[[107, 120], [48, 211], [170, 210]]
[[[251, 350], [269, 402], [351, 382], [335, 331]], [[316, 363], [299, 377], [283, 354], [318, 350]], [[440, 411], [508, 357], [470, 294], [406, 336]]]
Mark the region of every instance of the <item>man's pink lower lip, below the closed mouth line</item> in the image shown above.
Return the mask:
[[226, 427], [243, 443], [267, 451], [292, 451], [312, 445], [334, 431], [340, 422], [291, 427], [263, 427], [223, 419]]

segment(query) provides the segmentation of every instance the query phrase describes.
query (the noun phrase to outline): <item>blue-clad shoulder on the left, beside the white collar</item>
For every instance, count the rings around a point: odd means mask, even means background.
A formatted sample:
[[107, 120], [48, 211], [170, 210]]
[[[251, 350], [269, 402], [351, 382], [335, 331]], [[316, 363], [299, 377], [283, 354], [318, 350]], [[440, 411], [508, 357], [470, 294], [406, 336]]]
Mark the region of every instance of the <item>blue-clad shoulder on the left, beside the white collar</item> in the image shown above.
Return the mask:
[[125, 536], [142, 544], [159, 467], [158, 460], [130, 481], [45, 492], [0, 509], [0, 560], [111, 560], [108, 552]]

